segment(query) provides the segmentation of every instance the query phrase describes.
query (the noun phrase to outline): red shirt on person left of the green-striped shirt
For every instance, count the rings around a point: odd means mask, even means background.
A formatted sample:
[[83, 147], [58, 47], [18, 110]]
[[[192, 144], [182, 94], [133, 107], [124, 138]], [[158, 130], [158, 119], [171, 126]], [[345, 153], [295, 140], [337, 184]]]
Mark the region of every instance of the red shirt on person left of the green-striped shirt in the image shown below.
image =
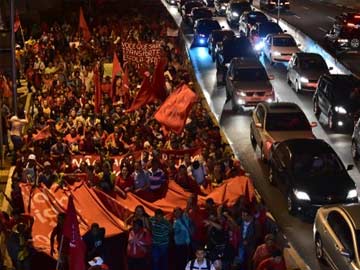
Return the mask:
[[[151, 234], [146, 229], [129, 232], [127, 255], [129, 258], [145, 258], [151, 245]], [[140, 270], [140, 269], [139, 269]]]

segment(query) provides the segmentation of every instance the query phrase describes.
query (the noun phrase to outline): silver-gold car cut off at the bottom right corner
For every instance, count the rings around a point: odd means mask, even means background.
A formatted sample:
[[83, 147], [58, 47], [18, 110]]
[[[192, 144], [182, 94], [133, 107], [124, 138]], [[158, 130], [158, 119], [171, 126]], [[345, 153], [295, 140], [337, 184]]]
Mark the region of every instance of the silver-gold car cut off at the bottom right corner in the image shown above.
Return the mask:
[[332, 269], [360, 269], [360, 204], [321, 207], [313, 231], [319, 260], [326, 260]]

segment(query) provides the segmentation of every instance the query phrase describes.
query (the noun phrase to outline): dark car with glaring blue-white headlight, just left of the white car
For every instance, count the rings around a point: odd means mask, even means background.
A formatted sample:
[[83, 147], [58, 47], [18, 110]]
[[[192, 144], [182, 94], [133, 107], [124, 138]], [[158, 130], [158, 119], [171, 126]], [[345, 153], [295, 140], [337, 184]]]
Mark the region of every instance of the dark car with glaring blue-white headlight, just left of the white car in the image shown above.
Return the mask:
[[260, 52], [264, 47], [264, 40], [267, 35], [284, 33], [281, 27], [275, 22], [262, 22], [257, 24], [250, 31], [249, 39], [255, 51]]

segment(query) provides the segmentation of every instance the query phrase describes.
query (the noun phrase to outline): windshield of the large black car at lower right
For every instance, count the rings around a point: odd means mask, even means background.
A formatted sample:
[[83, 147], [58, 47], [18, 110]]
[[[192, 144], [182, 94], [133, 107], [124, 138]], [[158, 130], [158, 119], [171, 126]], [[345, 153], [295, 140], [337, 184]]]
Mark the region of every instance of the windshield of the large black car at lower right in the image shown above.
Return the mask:
[[294, 173], [306, 177], [317, 175], [336, 175], [344, 171], [341, 161], [335, 153], [298, 152], [293, 156]]

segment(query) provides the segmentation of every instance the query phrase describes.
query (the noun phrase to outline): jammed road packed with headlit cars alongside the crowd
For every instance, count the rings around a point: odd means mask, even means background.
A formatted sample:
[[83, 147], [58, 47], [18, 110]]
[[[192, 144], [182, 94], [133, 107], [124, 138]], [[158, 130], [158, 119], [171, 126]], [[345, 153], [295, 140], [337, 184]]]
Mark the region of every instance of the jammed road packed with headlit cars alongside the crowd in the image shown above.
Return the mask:
[[255, 181], [266, 185], [259, 193], [268, 204], [268, 186], [270, 192], [276, 189], [290, 217], [286, 226], [299, 219], [296, 226], [306, 227], [312, 248], [303, 247], [310, 250], [303, 256], [308, 252], [317, 259], [309, 259], [309, 265], [359, 269], [360, 78], [335, 70], [327, 58], [347, 54], [359, 59], [360, 12], [331, 17], [331, 27], [318, 41], [327, 52], [323, 55], [322, 50], [302, 50], [304, 44], [279, 24], [280, 13], [293, 15], [290, 1], [166, 2], [173, 17], [181, 16], [198, 80], [220, 126], [239, 148], [235, 153], [257, 159], [245, 162], [245, 169], [255, 164], [250, 171], [265, 171], [260, 181], [266, 184]]

